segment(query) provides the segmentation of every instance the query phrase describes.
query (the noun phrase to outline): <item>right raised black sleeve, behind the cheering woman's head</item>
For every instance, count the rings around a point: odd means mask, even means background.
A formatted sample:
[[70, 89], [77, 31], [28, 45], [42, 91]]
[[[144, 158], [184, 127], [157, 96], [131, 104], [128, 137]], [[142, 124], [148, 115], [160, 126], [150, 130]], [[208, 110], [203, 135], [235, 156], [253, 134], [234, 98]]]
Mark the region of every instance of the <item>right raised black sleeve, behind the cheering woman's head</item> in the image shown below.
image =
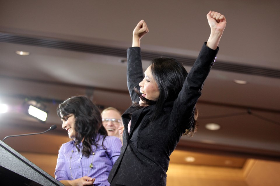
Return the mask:
[[[215, 61], [219, 48], [210, 49], [203, 44], [199, 55], [188, 73], [183, 84], [183, 88], [175, 100], [171, 113], [171, 122], [179, 125], [182, 129], [191, 128], [194, 121], [195, 104], [199, 96], [206, 77]], [[172, 121], [173, 120], [173, 121]]]

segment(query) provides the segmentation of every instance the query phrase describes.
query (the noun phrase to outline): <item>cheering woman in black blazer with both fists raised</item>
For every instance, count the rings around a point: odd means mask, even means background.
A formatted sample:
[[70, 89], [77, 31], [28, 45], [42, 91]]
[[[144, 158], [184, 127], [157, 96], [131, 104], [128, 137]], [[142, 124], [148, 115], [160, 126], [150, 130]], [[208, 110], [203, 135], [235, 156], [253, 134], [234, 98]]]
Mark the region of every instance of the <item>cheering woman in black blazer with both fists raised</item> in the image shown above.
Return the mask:
[[210, 11], [206, 17], [211, 34], [189, 74], [173, 58], [156, 58], [143, 78], [140, 40], [149, 30], [144, 20], [134, 28], [132, 47], [127, 49], [127, 86], [133, 104], [122, 114], [123, 147], [108, 177], [112, 186], [165, 186], [169, 156], [183, 134], [196, 132], [195, 105], [226, 25], [218, 12]]

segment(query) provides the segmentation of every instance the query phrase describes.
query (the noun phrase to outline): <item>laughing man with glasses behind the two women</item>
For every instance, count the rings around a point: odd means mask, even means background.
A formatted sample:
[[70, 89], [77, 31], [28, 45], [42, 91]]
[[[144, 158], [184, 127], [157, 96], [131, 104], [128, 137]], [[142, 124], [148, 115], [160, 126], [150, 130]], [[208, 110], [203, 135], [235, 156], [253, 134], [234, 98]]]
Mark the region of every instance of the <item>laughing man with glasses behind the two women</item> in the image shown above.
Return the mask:
[[108, 107], [101, 112], [102, 123], [109, 136], [115, 136], [122, 141], [122, 115], [116, 108]]

